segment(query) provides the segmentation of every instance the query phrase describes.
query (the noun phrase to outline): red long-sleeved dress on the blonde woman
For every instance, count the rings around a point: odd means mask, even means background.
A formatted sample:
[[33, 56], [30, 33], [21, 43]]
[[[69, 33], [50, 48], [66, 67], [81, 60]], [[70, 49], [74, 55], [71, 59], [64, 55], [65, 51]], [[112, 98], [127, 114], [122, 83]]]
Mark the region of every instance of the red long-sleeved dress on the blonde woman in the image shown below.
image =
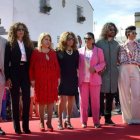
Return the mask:
[[35, 100], [39, 104], [49, 104], [58, 99], [58, 78], [60, 69], [55, 51], [46, 53], [34, 50], [30, 62], [30, 80], [35, 81]]

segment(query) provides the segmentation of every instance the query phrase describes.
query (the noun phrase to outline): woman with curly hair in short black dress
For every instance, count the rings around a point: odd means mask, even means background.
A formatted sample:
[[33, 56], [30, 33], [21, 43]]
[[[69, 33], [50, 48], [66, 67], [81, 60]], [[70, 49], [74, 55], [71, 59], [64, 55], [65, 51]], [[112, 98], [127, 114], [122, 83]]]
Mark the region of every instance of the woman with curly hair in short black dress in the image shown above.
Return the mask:
[[57, 47], [57, 56], [60, 64], [60, 85], [58, 102], [58, 129], [62, 130], [62, 112], [66, 109], [64, 127], [73, 129], [70, 123], [70, 115], [75, 99], [78, 94], [77, 69], [79, 53], [77, 51], [77, 39], [72, 32], [64, 32], [60, 36]]

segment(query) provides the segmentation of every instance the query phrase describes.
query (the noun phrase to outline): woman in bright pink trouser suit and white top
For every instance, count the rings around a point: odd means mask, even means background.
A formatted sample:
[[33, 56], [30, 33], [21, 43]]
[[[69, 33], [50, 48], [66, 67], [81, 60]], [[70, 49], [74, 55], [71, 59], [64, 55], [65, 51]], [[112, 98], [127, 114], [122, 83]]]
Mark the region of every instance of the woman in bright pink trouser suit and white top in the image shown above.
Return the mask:
[[102, 84], [100, 72], [105, 68], [103, 51], [94, 45], [94, 34], [85, 35], [85, 47], [79, 49], [79, 88], [80, 112], [82, 127], [87, 127], [88, 105], [91, 101], [94, 127], [99, 128], [100, 88]]

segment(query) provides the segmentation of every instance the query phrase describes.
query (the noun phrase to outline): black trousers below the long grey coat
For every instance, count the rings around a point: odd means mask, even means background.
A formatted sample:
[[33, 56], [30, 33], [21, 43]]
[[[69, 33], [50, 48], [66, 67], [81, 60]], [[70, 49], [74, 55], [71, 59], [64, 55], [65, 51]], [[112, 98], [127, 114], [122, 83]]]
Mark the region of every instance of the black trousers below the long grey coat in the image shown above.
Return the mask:
[[[114, 94], [113, 93], [100, 93], [100, 115], [105, 117], [105, 121], [111, 119], [112, 103]], [[106, 103], [104, 104], [104, 100]]]

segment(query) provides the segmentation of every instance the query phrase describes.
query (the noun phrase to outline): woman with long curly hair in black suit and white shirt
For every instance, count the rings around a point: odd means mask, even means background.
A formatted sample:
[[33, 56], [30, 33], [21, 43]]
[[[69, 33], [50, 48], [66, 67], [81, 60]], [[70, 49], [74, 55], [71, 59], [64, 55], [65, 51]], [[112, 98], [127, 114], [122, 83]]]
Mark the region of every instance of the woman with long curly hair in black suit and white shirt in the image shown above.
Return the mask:
[[22, 128], [26, 134], [29, 130], [30, 80], [29, 62], [33, 50], [28, 28], [17, 22], [10, 27], [8, 43], [5, 49], [5, 77], [11, 91], [13, 123], [15, 133], [22, 134], [19, 117], [20, 89], [22, 91]]

